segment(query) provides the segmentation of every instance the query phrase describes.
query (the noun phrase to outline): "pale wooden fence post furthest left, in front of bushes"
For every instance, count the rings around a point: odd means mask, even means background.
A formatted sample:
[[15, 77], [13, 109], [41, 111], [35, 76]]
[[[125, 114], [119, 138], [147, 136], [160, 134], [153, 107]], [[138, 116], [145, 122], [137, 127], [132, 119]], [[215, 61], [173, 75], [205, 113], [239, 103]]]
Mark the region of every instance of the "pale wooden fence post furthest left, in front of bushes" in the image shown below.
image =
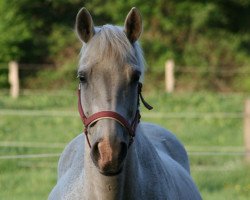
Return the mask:
[[17, 98], [19, 96], [19, 73], [18, 63], [15, 61], [9, 62], [9, 83], [10, 95]]

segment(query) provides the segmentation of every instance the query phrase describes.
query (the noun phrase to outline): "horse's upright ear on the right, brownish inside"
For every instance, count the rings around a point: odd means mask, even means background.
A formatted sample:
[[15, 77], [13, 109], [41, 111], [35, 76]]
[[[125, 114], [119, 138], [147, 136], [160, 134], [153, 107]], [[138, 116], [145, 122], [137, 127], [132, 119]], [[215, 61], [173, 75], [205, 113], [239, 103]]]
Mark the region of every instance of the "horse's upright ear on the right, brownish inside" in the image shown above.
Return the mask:
[[139, 10], [133, 7], [125, 20], [125, 33], [131, 43], [139, 39], [142, 32], [142, 18]]

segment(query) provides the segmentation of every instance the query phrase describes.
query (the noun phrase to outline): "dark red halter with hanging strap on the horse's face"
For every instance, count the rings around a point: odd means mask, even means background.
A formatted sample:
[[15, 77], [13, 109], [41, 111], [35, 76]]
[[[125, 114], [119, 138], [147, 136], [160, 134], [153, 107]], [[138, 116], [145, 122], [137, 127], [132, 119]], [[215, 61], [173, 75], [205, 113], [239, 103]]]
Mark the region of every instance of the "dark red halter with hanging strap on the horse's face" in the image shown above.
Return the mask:
[[143, 105], [148, 109], [151, 110], [153, 109], [152, 106], [150, 106], [143, 98], [142, 94], [141, 94], [141, 90], [142, 90], [142, 83], [138, 83], [138, 98], [137, 98], [137, 110], [134, 116], [133, 121], [131, 122], [131, 124], [128, 122], [128, 120], [126, 120], [122, 115], [120, 115], [117, 112], [114, 111], [100, 111], [97, 113], [94, 113], [92, 115], [90, 115], [89, 117], [86, 117], [86, 115], [84, 114], [84, 109], [82, 107], [81, 104], [81, 84], [79, 84], [79, 88], [78, 88], [78, 112], [80, 114], [80, 117], [82, 119], [82, 122], [84, 124], [84, 133], [88, 142], [89, 147], [91, 148], [91, 144], [89, 141], [89, 137], [88, 137], [88, 127], [91, 126], [92, 124], [94, 124], [95, 122], [102, 120], [102, 119], [112, 119], [115, 120], [116, 122], [118, 122], [121, 126], [123, 126], [130, 138], [129, 138], [129, 146], [133, 143], [134, 141], [134, 137], [135, 137], [135, 132], [136, 132], [136, 127], [137, 125], [140, 123], [140, 110], [139, 110], [139, 106], [140, 106], [140, 99], [143, 103]]

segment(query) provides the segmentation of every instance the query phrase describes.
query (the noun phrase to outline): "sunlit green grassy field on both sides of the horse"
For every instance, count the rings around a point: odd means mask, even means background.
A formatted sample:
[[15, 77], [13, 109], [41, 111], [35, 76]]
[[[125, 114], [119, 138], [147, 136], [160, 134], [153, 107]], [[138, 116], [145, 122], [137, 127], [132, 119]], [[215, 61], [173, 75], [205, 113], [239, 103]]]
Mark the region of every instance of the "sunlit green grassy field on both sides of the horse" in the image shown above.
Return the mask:
[[[246, 94], [154, 93], [145, 97], [154, 110], [149, 114], [143, 109], [143, 120], [171, 130], [184, 143], [204, 199], [249, 199], [250, 165], [242, 154]], [[0, 199], [46, 199], [56, 183], [55, 154], [81, 129], [74, 92], [32, 93], [18, 100], [1, 94]], [[37, 154], [45, 157], [11, 157]]]

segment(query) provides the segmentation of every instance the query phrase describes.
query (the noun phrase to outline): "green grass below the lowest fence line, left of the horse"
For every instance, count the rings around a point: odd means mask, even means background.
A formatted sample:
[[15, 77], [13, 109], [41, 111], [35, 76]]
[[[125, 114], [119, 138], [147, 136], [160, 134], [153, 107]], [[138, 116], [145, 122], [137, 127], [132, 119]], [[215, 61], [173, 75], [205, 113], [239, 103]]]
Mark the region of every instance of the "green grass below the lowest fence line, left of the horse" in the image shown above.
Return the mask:
[[2, 162], [0, 199], [46, 199], [56, 182], [56, 160]]

